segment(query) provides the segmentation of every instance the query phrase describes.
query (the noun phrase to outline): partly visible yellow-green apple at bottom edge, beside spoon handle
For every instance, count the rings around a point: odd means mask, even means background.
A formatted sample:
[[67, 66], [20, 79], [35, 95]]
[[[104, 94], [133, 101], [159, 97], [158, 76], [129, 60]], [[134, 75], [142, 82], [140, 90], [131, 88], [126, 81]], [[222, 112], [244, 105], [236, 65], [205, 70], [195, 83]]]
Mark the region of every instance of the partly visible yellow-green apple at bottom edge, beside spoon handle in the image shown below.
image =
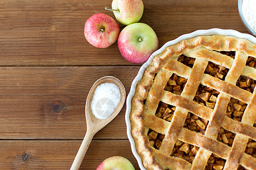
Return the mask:
[[112, 156], [105, 159], [100, 165], [98, 165], [96, 170], [135, 170], [133, 164], [122, 156]]

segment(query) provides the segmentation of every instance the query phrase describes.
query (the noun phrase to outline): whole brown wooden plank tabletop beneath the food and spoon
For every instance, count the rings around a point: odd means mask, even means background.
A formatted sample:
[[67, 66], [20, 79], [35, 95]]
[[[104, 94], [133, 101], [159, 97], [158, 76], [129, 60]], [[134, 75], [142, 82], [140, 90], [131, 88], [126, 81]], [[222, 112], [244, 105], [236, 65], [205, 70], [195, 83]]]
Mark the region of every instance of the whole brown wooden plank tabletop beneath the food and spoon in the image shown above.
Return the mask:
[[[102, 76], [119, 78], [129, 93], [139, 67], [126, 61], [117, 42], [106, 49], [84, 37], [89, 16], [110, 0], [0, 1], [0, 168], [69, 169], [86, 131], [85, 99]], [[158, 35], [159, 46], [197, 29], [248, 33], [237, 0], [144, 0], [141, 21]], [[120, 28], [124, 28], [119, 24]], [[81, 169], [125, 156], [135, 169], [121, 113], [93, 138]]]

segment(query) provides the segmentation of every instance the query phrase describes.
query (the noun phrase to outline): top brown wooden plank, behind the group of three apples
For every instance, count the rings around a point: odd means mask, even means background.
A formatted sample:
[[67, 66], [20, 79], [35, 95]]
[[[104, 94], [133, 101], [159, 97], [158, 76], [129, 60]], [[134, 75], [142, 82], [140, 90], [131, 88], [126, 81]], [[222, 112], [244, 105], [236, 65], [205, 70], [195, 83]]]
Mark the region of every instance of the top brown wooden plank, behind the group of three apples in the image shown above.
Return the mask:
[[[109, 0], [0, 1], [0, 66], [134, 65], [118, 51], [117, 42], [94, 48], [84, 37], [89, 16], [103, 12], [114, 18]], [[144, 2], [140, 22], [150, 25], [159, 46], [197, 29], [236, 29], [247, 33], [237, 0], [170, 0]], [[121, 29], [124, 27], [119, 24]]]

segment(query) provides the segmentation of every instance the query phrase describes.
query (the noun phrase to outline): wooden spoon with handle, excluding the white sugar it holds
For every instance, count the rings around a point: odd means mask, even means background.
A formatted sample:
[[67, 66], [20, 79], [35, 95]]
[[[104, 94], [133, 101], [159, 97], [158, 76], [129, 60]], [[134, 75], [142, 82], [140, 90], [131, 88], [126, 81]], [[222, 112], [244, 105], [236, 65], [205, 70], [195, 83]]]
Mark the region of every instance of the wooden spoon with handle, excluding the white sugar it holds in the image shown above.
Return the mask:
[[[114, 112], [106, 119], [100, 120], [96, 118], [93, 113], [92, 109], [90, 108], [90, 103], [92, 103], [94, 91], [100, 84], [102, 83], [114, 83], [118, 86], [120, 92], [121, 92], [121, 100], [117, 107], [115, 108]], [[76, 158], [71, 166], [71, 169], [79, 169], [82, 160], [84, 159], [85, 153], [90, 145], [90, 142], [92, 141], [93, 136], [102, 128], [104, 128], [107, 124], [109, 124], [110, 121], [112, 121], [115, 116], [121, 111], [123, 104], [125, 103], [125, 87], [123, 87], [122, 82], [115, 78], [114, 76], [104, 76], [100, 79], [98, 79], [92, 86], [92, 88], [89, 91], [89, 94], [86, 99], [85, 104], [85, 117], [86, 117], [86, 134], [84, 137], [84, 140], [81, 143], [81, 146], [79, 148], [79, 151], [76, 154]]]

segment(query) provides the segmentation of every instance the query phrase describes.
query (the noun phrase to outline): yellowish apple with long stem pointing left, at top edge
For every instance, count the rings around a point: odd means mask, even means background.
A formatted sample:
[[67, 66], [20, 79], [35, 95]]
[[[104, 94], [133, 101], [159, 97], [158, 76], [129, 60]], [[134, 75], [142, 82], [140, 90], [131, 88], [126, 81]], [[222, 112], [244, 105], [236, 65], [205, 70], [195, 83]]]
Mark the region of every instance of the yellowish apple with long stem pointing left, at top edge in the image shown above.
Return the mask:
[[112, 9], [105, 9], [113, 11], [119, 23], [129, 25], [141, 19], [144, 6], [142, 0], [113, 0]]

